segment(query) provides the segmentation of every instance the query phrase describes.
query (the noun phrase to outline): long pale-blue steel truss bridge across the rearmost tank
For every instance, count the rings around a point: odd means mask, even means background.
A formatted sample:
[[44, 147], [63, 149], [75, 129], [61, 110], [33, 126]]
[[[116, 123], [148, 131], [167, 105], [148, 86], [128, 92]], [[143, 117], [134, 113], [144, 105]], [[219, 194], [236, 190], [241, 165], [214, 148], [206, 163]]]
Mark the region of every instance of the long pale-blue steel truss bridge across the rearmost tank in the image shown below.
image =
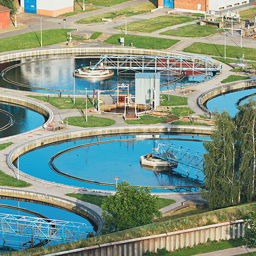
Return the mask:
[[209, 72], [218, 73], [221, 70], [221, 64], [212, 62], [208, 57], [199, 56], [101, 55], [99, 61], [91, 61], [90, 67], [138, 72], [190, 71], [192, 75], [207, 75]]

